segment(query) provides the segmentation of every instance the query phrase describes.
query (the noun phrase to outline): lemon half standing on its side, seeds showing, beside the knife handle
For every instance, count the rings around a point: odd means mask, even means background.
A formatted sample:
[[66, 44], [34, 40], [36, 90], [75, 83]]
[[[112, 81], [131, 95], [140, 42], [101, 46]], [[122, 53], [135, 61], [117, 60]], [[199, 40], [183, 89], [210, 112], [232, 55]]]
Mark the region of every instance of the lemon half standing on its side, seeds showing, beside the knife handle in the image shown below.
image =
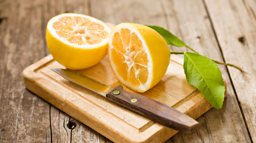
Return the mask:
[[117, 79], [134, 91], [155, 86], [170, 62], [170, 50], [162, 36], [144, 25], [122, 23], [109, 36], [108, 57]]

